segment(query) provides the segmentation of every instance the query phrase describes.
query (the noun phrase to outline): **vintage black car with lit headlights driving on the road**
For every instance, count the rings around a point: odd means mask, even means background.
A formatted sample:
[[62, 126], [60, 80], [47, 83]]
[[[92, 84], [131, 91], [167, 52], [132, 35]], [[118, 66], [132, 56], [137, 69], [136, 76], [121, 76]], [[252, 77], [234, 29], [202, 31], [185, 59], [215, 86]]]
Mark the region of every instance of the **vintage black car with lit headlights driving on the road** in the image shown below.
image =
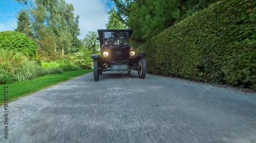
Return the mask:
[[138, 71], [140, 78], [146, 76], [145, 53], [136, 54], [129, 45], [129, 38], [133, 30], [98, 30], [100, 41], [100, 55], [92, 54], [94, 59], [94, 80], [104, 71], [122, 71], [131, 74], [131, 70]]

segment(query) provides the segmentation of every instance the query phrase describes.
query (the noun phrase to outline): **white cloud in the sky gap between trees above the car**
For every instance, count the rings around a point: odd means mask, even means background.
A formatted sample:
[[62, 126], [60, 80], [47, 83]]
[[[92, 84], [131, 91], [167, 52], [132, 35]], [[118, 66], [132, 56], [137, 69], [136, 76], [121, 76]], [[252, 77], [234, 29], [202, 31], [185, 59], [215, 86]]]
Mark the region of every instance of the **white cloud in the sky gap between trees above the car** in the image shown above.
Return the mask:
[[108, 22], [107, 11], [110, 10], [110, 0], [66, 0], [75, 8], [75, 15], [79, 15], [79, 27], [81, 30], [80, 39], [84, 38], [89, 31], [96, 32], [98, 29], [105, 29]]

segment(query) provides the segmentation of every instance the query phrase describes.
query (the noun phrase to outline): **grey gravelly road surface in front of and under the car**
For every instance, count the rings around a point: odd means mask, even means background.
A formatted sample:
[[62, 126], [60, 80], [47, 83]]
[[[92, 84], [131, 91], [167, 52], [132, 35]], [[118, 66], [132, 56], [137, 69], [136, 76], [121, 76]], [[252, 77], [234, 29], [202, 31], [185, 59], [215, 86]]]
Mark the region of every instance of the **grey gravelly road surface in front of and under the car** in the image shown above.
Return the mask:
[[8, 118], [0, 142], [256, 141], [255, 94], [136, 72], [53, 85], [11, 102]]

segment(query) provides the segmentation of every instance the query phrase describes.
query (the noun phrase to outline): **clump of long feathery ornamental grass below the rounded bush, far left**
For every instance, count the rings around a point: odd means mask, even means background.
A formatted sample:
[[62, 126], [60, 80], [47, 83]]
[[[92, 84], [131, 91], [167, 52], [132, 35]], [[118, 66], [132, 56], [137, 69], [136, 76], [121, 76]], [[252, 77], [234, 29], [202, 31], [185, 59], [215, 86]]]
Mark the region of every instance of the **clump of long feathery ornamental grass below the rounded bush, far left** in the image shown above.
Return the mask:
[[40, 65], [20, 52], [0, 50], [0, 83], [24, 81], [39, 76]]

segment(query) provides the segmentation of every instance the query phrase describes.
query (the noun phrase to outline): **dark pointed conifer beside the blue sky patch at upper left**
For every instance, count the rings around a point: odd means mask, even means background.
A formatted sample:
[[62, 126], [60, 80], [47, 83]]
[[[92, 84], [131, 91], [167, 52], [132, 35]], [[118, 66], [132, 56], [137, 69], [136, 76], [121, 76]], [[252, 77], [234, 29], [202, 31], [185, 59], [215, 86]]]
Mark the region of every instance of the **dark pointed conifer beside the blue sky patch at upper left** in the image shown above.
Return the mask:
[[30, 17], [25, 10], [20, 11], [18, 16], [18, 27], [15, 31], [26, 34], [29, 38], [33, 38]]

